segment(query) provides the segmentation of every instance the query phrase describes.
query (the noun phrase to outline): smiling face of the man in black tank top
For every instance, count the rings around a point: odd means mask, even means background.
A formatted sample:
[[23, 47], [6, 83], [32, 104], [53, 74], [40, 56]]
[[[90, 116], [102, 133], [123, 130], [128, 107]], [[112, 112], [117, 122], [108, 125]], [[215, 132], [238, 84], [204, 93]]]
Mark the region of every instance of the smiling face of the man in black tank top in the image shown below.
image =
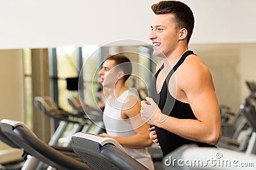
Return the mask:
[[179, 41], [179, 32], [175, 29], [173, 14], [156, 15], [153, 18], [149, 39], [152, 40], [154, 52], [158, 57], [168, 57]]

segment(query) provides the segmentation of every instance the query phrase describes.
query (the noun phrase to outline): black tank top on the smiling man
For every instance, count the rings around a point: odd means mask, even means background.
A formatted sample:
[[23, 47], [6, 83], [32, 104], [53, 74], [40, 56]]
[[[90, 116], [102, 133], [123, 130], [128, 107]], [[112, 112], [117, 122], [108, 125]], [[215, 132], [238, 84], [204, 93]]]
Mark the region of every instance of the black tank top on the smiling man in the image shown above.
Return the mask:
[[[163, 66], [157, 71], [155, 74], [155, 80], [153, 81], [153, 87], [152, 87], [152, 98], [154, 101], [158, 104], [158, 107], [162, 111], [164, 115], [168, 115], [170, 117], [180, 118], [180, 119], [194, 119], [196, 120], [196, 117], [191, 110], [191, 107], [188, 103], [183, 103], [177, 99], [175, 99], [168, 90], [168, 82], [172, 76], [172, 74], [177, 70], [177, 68], [184, 62], [186, 57], [188, 55], [194, 54], [192, 51], [185, 52], [182, 57], [179, 59], [177, 64], [173, 67], [173, 69], [168, 73], [168, 76], [166, 76], [166, 80], [163, 83], [163, 87], [161, 89], [161, 92], [157, 94], [156, 91], [156, 79], [160, 71], [163, 69]], [[156, 127], [156, 133], [157, 133], [157, 139], [159, 141], [159, 145], [161, 146], [161, 150], [163, 152], [163, 156], [166, 154], [172, 152], [176, 148], [179, 148], [179, 146], [195, 143], [198, 146], [213, 146], [209, 145], [207, 143], [200, 143], [196, 141], [191, 141], [186, 138], [182, 138], [181, 136], [178, 136], [177, 134], [173, 134], [172, 132], [166, 131], [164, 129], [161, 129], [159, 127]]]

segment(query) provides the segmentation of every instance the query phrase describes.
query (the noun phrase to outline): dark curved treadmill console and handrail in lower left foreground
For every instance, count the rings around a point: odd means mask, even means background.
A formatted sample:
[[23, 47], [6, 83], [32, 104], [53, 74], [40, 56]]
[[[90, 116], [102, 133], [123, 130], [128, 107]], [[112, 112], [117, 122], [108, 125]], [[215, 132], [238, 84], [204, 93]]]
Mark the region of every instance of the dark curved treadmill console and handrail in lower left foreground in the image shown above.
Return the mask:
[[[83, 162], [79, 162], [78, 160], [72, 159], [63, 153], [54, 150], [54, 148], [37, 138], [26, 125], [17, 122], [19, 125], [13, 127], [12, 125], [5, 123], [2, 124], [1, 122], [1, 127], [4, 127], [3, 132], [6, 137], [11, 139], [16, 145], [20, 146], [26, 153], [45, 162], [45, 164], [58, 169], [91, 169], [86, 164], [83, 164]], [[10, 127], [12, 128], [11, 130], [8, 129]]]

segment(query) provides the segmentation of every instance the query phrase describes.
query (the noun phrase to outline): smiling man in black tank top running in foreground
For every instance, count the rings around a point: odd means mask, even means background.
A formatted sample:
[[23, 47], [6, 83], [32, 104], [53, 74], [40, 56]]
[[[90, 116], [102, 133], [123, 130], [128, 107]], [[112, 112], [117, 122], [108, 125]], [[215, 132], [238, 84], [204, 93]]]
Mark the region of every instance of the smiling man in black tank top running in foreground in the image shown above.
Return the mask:
[[141, 101], [141, 117], [152, 125], [150, 139], [166, 155], [179, 146], [196, 143], [214, 147], [221, 137], [218, 100], [211, 72], [188, 48], [194, 17], [186, 4], [160, 1], [149, 39], [157, 64], [152, 98]]

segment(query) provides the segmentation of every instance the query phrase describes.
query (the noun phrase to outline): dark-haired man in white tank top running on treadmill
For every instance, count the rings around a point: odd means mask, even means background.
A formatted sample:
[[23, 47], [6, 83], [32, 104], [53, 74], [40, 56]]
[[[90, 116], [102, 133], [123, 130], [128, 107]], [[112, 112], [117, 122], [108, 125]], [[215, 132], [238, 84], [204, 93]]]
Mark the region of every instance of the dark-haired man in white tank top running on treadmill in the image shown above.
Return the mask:
[[100, 83], [108, 89], [109, 96], [103, 113], [107, 133], [100, 134], [113, 138], [133, 157], [148, 169], [154, 163], [147, 147], [152, 145], [148, 128], [140, 116], [140, 99], [132, 90], [127, 89], [125, 81], [132, 73], [131, 61], [123, 54], [111, 55], [99, 71]]

